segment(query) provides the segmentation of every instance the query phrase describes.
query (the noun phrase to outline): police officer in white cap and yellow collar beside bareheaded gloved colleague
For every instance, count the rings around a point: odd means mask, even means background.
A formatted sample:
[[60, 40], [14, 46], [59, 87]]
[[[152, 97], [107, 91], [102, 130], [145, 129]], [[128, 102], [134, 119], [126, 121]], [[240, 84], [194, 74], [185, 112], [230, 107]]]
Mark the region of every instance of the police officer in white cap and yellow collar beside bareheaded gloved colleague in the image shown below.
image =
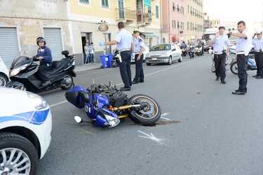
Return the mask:
[[144, 82], [144, 73], [142, 68], [144, 41], [140, 37], [140, 30], [133, 29], [133, 36], [136, 38], [134, 41], [134, 52], [135, 52], [135, 78], [133, 78], [133, 84]]

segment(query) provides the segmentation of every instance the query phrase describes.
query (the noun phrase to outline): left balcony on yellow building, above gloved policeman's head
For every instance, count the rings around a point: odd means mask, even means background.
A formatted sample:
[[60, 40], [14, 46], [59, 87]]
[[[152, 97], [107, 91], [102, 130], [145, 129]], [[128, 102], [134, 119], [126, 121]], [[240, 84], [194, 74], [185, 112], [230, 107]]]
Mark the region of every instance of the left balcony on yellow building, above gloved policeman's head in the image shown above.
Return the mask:
[[130, 10], [129, 8], [116, 8], [116, 20], [117, 22], [125, 22], [126, 25], [134, 23], [136, 20], [136, 10]]

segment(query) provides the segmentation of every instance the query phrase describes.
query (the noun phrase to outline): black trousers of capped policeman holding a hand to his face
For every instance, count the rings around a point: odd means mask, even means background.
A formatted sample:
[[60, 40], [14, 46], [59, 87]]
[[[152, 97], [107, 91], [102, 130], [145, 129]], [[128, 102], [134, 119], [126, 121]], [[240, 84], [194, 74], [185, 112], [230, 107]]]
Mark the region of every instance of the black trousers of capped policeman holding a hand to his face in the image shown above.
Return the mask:
[[214, 55], [215, 76], [220, 77], [220, 80], [224, 80], [224, 78], [226, 78], [226, 57], [226, 53]]

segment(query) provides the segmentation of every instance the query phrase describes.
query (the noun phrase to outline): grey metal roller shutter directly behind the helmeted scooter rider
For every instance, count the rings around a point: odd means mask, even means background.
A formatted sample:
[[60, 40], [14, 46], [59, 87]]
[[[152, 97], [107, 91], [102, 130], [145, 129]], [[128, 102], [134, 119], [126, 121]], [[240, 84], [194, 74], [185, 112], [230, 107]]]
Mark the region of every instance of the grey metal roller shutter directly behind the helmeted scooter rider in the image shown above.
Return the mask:
[[43, 37], [46, 40], [46, 46], [51, 50], [53, 61], [62, 59], [61, 28], [43, 27]]

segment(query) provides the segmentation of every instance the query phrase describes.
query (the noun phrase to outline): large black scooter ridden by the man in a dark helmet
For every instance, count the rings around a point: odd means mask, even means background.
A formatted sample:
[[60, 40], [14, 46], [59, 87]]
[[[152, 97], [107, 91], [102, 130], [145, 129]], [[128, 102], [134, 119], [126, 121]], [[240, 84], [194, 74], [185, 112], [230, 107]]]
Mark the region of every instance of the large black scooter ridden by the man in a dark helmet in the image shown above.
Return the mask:
[[43, 82], [36, 73], [39, 69], [39, 64], [36, 63], [39, 61], [38, 55], [32, 57], [33, 52], [36, 52], [36, 49], [32, 48], [23, 49], [13, 60], [9, 71], [11, 81], [6, 85], [7, 87], [39, 93], [59, 87], [62, 90], [69, 90], [72, 85], [74, 86], [72, 78], [76, 77], [74, 55], [69, 55], [68, 50], [62, 51], [65, 58], [53, 61], [53, 69], [46, 72], [51, 81], [50, 85], [42, 86]]

